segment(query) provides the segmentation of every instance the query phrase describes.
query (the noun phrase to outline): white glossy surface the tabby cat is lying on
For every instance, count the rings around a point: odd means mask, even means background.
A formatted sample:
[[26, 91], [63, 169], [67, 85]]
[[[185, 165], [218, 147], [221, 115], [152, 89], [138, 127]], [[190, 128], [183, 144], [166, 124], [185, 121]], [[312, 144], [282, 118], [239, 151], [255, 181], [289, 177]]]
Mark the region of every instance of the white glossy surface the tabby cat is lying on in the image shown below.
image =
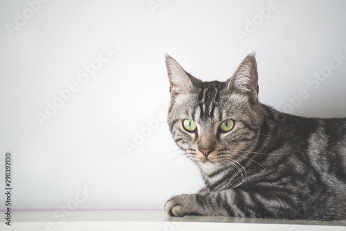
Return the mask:
[[15, 212], [10, 227], [1, 230], [345, 230], [345, 221], [311, 222], [236, 219], [215, 216], [169, 217], [164, 212], [69, 211], [64, 221], [52, 212]]

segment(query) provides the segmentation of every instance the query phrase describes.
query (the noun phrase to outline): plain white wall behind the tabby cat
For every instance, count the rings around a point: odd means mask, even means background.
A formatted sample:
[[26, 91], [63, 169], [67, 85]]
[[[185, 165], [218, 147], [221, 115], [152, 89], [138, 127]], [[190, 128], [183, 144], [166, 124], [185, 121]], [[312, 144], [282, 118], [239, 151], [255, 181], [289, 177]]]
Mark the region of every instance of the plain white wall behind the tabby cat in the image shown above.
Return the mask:
[[84, 187], [80, 208], [161, 209], [199, 190], [165, 122], [164, 53], [226, 80], [255, 51], [263, 103], [346, 117], [346, 1], [37, 1], [0, 2], [0, 182], [10, 151], [13, 209], [66, 207]]

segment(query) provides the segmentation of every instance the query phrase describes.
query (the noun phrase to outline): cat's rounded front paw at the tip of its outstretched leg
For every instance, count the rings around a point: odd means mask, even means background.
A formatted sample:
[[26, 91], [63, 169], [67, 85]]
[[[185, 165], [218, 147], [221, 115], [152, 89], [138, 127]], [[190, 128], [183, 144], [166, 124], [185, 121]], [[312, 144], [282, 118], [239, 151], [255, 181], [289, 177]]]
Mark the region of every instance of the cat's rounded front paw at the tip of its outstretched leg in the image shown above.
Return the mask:
[[194, 195], [184, 194], [173, 196], [165, 203], [165, 212], [170, 216], [185, 216], [196, 214]]

